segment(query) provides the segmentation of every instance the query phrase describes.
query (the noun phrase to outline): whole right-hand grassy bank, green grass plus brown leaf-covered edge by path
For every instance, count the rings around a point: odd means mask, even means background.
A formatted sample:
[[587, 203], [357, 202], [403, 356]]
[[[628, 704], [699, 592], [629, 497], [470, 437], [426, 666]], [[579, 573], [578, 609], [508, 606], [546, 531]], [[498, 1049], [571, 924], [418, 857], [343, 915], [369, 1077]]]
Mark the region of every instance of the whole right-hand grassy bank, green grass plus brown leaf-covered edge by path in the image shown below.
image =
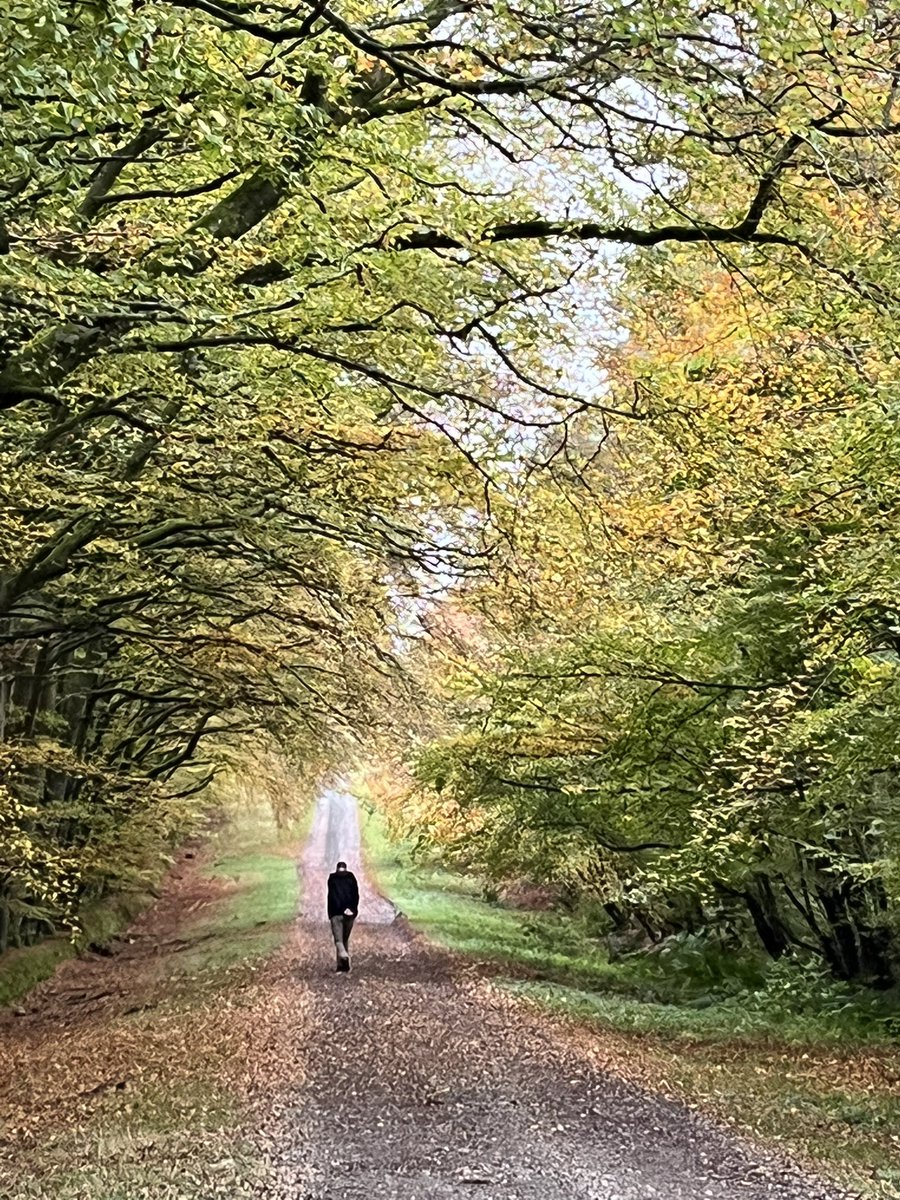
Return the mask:
[[900, 1051], [889, 1000], [815, 967], [722, 961], [690, 940], [610, 962], [589, 922], [481, 899], [364, 816], [382, 889], [430, 938], [602, 1037], [616, 1069], [781, 1146], [869, 1196], [900, 1198]]

